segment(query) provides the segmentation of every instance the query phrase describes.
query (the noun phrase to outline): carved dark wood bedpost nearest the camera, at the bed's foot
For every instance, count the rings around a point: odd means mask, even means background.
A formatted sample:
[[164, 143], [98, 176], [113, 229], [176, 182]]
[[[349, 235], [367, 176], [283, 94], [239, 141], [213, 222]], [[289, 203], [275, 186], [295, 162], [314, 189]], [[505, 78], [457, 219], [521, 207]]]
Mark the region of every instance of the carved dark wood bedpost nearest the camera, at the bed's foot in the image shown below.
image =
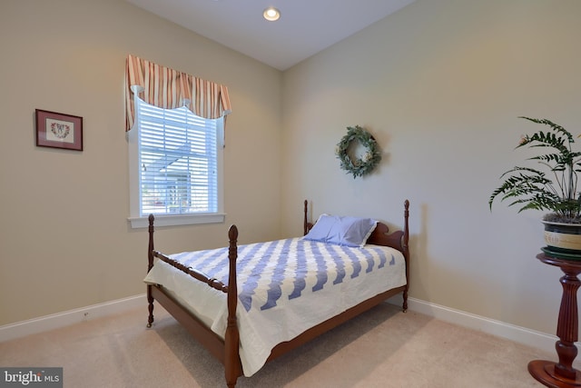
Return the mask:
[[224, 369], [226, 383], [229, 387], [236, 385], [236, 380], [241, 374], [241, 363], [239, 354], [240, 333], [238, 332], [238, 322], [236, 319], [236, 306], [238, 304], [238, 285], [236, 284], [236, 259], [238, 258], [238, 228], [231, 225], [228, 231], [230, 245], [228, 248], [228, 261], [230, 271], [228, 274], [228, 322], [226, 334], [224, 336]]

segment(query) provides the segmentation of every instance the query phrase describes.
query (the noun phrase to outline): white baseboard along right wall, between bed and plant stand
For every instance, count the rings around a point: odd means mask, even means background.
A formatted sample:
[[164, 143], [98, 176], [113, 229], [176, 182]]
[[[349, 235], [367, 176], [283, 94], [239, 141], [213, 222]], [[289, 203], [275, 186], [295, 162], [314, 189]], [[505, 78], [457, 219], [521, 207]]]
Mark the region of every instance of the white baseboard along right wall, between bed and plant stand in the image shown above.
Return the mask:
[[[388, 302], [401, 305], [401, 297], [389, 299]], [[434, 317], [440, 321], [458, 324], [469, 329], [479, 330], [516, 343], [522, 343], [527, 346], [555, 353], [555, 343], [558, 340], [556, 335], [537, 332], [526, 327], [496, 321], [484, 316], [454, 310], [446, 306], [415, 298], [408, 298], [408, 309]]]

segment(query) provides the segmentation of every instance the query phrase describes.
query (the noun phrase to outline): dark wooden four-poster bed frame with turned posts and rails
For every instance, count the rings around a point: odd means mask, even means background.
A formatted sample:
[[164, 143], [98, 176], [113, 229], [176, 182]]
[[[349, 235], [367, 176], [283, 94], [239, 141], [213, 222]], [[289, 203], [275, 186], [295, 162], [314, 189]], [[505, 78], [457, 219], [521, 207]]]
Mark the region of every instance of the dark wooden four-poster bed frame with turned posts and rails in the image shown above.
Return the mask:
[[[307, 201], [304, 202], [304, 234], [307, 234], [312, 227], [312, 224], [307, 221]], [[405, 257], [406, 260], [406, 284], [397, 288], [393, 288], [384, 293], [379, 293], [378, 295], [359, 303], [358, 305], [351, 307], [339, 315], [330, 318], [329, 320], [320, 323], [309, 330], [300, 333], [297, 337], [291, 341], [279, 343], [276, 345], [268, 358], [271, 361], [284, 353], [291, 351], [292, 349], [300, 346], [303, 343], [307, 343], [313, 338], [319, 336], [322, 333], [328, 332], [330, 329], [339, 326], [341, 323], [349, 321], [351, 318], [369, 310], [371, 307], [385, 301], [389, 297], [396, 295], [398, 293], [403, 293], [403, 311], [408, 310], [408, 289], [409, 289], [409, 229], [408, 229], [408, 219], [409, 219], [409, 201], [406, 200], [404, 203], [404, 228], [402, 231], [397, 231], [392, 234], [389, 233], [389, 227], [386, 224], [378, 223], [376, 229], [369, 236], [369, 244], [386, 245], [399, 250]], [[149, 245], [148, 245], [148, 272], [153, 267], [153, 258], [157, 257], [160, 260], [172, 264], [176, 268], [182, 270], [186, 274], [190, 274], [195, 279], [208, 284], [210, 287], [220, 290], [227, 294], [228, 303], [228, 320], [226, 333], [224, 339], [222, 339], [218, 334], [213, 333], [212, 330], [202, 321], [190, 313], [187, 309], [182, 307], [180, 303], [177, 303], [175, 299], [167, 293], [163, 287], [159, 284], [148, 284], [147, 285], [147, 301], [149, 309], [149, 318], [147, 327], [152, 327], [153, 324], [153, 301], [157, 300], [162, 306], [167, 310], [172, 316], [179, 322], [182, 323], [183, 327], [192, 334], [194, 338], [198, 340], [210, 353], [213, 354], [222, 364], [225, 369], [226, 383], [229, 387], [234, 387], [238, 377], [242, 375], [240, 355], [238, 353], [239, 349], [239, 338], [240, 334], [238, 332], [238, 323], [236, 319], [236, 306], [238, 303], [237, 292], [229, 293], [229, 290], [237, 290], [236, 284], [236, 259], [237, 259], [237, 239], [238, 239], [238, 229], [236, 225], [231, 225], [228, 231], [228, 238], [230, 240], [228, 259], [230, 263], [230, 272], [228, 284], [222, 284], [222, 282], [216, 279], [210, 279], [201, 272], [195, 271], [190, 268], [186, 268], [182, 264], [178, 264], [166, 255], [155, 251], [153, 248], [153, 214], [149, 216]]]

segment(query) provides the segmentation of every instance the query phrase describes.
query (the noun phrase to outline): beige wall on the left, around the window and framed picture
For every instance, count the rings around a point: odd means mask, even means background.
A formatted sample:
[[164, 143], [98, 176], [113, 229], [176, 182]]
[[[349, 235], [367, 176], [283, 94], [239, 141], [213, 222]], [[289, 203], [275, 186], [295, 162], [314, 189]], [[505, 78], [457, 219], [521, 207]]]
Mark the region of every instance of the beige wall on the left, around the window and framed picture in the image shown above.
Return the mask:
[[[157, 248], [222, 246], [229, 224], [241, 242], [280, 235], [279, 71], [120, 0], [2, 1], [0, 52], [0, 325], [144, 293], [146, 230], [127, 223], [128, 54], [231, 95], [226, 223], [159, 230]], [[37, 108], [83, 116], [84, 151], [36, 147]]]

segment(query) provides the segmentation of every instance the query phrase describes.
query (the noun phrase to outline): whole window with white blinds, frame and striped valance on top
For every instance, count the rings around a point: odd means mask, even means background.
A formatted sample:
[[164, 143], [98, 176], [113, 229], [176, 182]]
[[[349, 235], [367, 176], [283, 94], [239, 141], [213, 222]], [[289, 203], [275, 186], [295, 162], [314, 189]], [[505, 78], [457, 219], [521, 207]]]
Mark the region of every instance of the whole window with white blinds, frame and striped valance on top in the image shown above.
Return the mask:
[[[154, 64], [125, 62], [132, 227], [223, 223], [224, 116], [228, 87]], [[132, 129], [133, 128], [133, 129]]]

